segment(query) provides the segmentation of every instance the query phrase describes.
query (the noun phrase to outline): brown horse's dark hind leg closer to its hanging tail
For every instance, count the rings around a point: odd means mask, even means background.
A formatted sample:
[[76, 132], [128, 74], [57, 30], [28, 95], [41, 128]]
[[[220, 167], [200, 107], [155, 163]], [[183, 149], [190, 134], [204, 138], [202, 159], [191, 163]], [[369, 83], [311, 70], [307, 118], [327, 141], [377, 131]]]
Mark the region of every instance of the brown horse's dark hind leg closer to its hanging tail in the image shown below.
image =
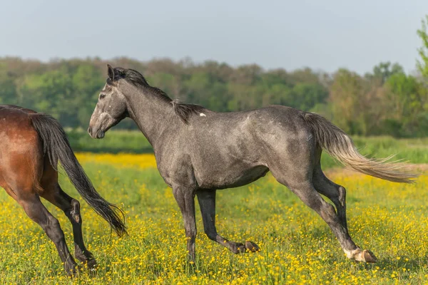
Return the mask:
[[83, 242], [82, 217], [78, 200], [73, 199], [68, 196], [66, 192], [63, 192], [58, 182], [45, 186], [45, 192], [42, 197], [56, 205], [56, 207], [66, 214], [73, 226], [74, 256], [79, 261], [87, 263], [89, 269], [93, 269], [96, 266], [96, 259], [94, 259], [91, 252], [86, 249]]

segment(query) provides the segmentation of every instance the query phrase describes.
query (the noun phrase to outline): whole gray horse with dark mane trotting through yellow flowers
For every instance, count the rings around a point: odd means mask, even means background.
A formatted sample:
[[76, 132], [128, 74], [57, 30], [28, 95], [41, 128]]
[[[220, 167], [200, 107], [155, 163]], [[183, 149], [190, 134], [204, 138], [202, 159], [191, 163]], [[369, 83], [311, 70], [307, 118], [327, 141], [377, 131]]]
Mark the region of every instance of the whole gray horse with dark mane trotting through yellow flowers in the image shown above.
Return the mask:
[[[195, 259], [195, 195], [205, 234], [231, 252], [256, 252], [253, 242], [231, 242], [215, 229], [215, 192], [247, 185], [272, 172], [330, 226], [349, 259], [375, 262], [374, 254], [352, 241], [347, 229], [345, 188], [325, 177], [322, 149], [352, 170], [393, 182], [412, 182], [417, 175], [402, 164], [372, 160], [357, 152], [340, 128], [314, 113], [281, 105], [233, 113], [216, 113], [199, 105], [178, 103], [150, 86], [132, 69], [108, 66], [108, 79], [93, 111], [88, 133], [103, 138], [129, 117], [153, 146], [166, 184], [183, 214], [187, 249]], [[329, 204], [320, 195], [328, 197]]]

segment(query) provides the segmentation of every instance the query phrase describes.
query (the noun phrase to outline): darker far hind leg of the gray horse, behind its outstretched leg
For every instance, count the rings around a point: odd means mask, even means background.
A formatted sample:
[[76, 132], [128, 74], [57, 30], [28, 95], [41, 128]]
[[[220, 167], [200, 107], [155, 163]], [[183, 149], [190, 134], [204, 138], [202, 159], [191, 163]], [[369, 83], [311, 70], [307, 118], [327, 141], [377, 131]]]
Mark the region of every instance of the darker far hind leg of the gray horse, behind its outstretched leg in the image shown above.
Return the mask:
[[340, 219], [340, 224], [342, 224], [342, 226], [348, 232], [345, 187], [337, 185], [335, 182], [332, 182], [327, 177], [325, 177], [324, 172], [321, 170], [321, 165], [317, 165], [317, 167], [315, 167], [312, 182], [317, 192], [321, 193], [330, 199], [333, 204], [335, 204], [337, 217]]

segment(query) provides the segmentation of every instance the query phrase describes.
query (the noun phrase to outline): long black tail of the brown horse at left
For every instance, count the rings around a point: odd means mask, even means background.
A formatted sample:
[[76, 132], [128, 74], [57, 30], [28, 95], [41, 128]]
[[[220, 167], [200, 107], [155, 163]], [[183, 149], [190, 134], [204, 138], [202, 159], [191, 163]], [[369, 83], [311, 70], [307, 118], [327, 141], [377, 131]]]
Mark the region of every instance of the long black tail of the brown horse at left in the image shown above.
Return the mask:
[[71, 150], [66, 133], [57, 120], [50, 115], [31, 114], [31, 121], [43, 142], [45, 155], [49, 156], [51, 165], [57, 169], [58, 161], [61, 162], [71, 183], [85, 201], [105, 219], [118, 236], [126, 234], [126, 226], [123, 221], [123, 211], [106, 201], [96, 192], [91, 180], [83, 171], [76, 156]]

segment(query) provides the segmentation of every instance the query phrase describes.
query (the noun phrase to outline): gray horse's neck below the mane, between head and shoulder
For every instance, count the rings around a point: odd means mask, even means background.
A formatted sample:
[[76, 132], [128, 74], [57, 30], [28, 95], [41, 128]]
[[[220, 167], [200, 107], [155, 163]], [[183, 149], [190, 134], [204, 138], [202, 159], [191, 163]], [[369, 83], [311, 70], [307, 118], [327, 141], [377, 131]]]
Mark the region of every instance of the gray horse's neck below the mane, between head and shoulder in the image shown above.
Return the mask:
[[175, 128], [173, 105], [166, 102], [150, 90], [136, 88], [125, 93], [128, 102], [129, 117], [146, 136], [153, 147], [159, 142], [162, 133], [168, 128]]

